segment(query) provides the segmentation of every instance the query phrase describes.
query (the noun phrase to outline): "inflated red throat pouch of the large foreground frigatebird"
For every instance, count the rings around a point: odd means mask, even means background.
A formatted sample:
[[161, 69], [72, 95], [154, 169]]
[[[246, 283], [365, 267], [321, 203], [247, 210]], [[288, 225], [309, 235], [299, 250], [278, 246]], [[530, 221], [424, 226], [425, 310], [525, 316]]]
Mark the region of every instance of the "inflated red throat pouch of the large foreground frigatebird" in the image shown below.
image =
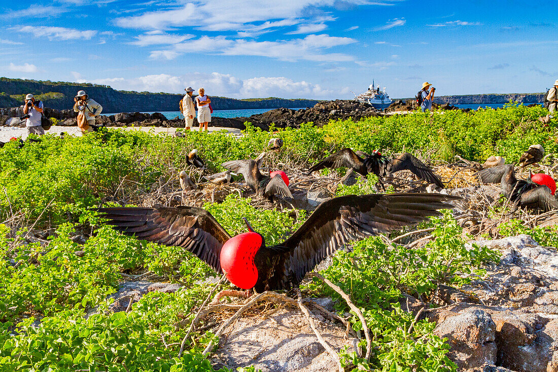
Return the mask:
[[242, 289], [256, 285], [258, 269], [254, 256], [262, 243], [262, 236], [257, 232], [243, 232], [225, 242], [221, 249], [221, 268], [230, 283]]

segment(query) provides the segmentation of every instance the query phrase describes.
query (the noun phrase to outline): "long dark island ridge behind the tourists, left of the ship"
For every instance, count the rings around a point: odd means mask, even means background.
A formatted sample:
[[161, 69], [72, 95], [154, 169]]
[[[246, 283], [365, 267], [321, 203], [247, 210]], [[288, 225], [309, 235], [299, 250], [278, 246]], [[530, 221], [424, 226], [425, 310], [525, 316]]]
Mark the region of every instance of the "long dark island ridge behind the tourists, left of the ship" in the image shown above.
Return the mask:
[[[89, 83], [51, 82], [49, 80], [24, 80], [0, 78], [0, 107], [17, 107], [23, 104], [27, 93], [32, 93], [44, 102], [46, 107], [70, 109], [78, 90], [85, 90], [89, 97], [103, 106], [103, 111], [111, 112], [153, 112], [179, 111], [179, 102], [184, 94], [129, 92], [114, 90], [108, 85]], [[253, 108], [305, 108], [320, 102], [316, 99], [249, 98], [234, 99], [211, 96], [211, 106], [216, 110]]]

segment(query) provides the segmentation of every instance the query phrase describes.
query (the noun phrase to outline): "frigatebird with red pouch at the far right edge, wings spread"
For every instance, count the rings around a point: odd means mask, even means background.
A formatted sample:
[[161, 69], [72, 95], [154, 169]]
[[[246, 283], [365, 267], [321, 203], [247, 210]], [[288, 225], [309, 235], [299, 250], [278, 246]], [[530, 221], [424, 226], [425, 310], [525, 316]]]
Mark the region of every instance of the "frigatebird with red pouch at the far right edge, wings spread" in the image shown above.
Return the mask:
[[540, 183], [535, 183], [531, 180], [531, 177], [529, 177], [530, 179], [518, 180], [513, 164], [484, 169], [475, 173], [475, 176], [483, 183], [499, 183], [501, 194], [512, 201], [515, 208], [540, 208], [544, 211], [558, 209], [558, 201], [556, 201], [550, 189], [552, 183], [554, 183], [554, 189], [556, 190], [556, 183], [550, 176], [547, 176], [551, 179], [550, 183], [548, 180], [539, 180], [539, 178], [535, 180]]

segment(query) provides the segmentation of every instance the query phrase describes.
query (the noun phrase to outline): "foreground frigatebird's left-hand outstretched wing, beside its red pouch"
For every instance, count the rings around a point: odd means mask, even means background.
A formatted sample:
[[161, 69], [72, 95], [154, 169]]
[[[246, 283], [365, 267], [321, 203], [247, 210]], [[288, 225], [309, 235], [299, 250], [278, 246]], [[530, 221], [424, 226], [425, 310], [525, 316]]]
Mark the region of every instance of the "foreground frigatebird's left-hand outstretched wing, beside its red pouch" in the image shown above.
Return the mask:
[[186, 249], [221, 273], [221, 248], [230, 235], [215, 218], [196, 207], [97, 208], [104, 222], [137, 239]]

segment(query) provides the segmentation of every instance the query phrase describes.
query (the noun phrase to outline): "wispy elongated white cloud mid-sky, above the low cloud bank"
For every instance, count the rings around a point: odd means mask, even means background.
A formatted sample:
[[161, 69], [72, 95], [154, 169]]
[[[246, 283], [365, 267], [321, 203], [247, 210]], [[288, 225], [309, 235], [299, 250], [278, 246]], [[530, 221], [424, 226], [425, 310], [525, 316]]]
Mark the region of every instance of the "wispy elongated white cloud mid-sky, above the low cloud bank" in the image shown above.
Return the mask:
[[350, 37], [329, 35], [307, 35], [304, 39], [280, 41], [254, 41], [246, 39], [229, 40], [224, 36], [202, 36], [199, 39], [186, 40], [172, 45], [168, 50], [156, 50], [151, 53], [153, 59], [172, 59], [186, 53], [208, 53], [223, 55], [249, 55], [275, 58], [285, 61], [353, 61], [350, 55], [340, 53], [323, 53], [334, 46], [353, 44]]

